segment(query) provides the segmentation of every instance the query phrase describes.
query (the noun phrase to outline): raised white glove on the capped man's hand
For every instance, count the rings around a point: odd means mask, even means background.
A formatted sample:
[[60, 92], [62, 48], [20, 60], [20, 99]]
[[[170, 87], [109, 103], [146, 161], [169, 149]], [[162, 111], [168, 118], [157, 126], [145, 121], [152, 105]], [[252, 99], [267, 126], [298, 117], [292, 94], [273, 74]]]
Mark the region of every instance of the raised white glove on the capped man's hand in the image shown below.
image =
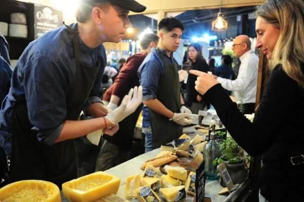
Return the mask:
[[105, 118], [107, 118], [113, 124], [117, 124], [118, 122], [122, 121], [124, 118], [135, 112], [141, 102], [142, 87], [139, 86], [137, 89], [137, 86], [135, 86], [134, 90], [133, 88], [131, 88], [129, 94], [124, 97], [122, 104], [113, 112], [108, 113]]

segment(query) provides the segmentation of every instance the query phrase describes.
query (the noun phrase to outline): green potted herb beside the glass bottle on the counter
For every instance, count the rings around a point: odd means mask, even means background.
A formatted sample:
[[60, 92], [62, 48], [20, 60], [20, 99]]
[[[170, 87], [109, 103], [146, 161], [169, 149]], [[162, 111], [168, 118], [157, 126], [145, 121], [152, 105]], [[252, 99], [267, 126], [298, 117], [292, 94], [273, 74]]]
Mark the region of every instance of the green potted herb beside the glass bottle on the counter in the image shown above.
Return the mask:
[[[223, 135], [224, 132], [218, 131], [217, 135]], [[244, 157], [244, 150], [240, 145], [233, 139], [232, 136], [227, 134], [227, 137], [219, 141], [222, 156], [214, 160], [215, 165], [221, 163], [225, 164], [225, 167], [232, 178], [232, 181], [242, 183], [248, 177], [248, 169], [245, 161], [250, 161], [250, 157]], [[222, 179], [220, 178], [220, 185], [225, 186]]]

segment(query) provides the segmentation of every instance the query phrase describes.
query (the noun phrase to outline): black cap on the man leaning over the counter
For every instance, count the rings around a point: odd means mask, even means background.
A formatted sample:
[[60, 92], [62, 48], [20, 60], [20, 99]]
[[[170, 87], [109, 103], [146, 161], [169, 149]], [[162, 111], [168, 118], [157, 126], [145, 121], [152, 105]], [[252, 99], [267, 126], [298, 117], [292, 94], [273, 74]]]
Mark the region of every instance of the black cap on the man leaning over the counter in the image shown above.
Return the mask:
[[146, 7], [139, 4], [138, 2], [134, 0], [82, 0], [86, 3], [97, 3], [97, 2], [110, 2], [112, 4], [116, 4], [123, 9], [126, 9], [128, 11], [132, 11], [135, 13], [141, 13], [144, 10], [146, 10]]

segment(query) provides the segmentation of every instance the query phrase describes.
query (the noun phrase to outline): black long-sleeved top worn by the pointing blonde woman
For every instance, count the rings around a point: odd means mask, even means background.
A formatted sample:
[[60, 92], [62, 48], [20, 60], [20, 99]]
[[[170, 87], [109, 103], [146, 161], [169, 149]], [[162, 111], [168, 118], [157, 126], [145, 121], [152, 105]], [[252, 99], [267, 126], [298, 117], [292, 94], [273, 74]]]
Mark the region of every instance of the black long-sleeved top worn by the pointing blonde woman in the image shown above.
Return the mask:
[[304, 155], [304, 89], [278, 65], [270, 74], [253, 123], [220, 84], [210, 88], [205, 98], [240, 146], [253, 157], [262, 155], [261, 195], [269, 201], [298, 201], [304, 190], [304, 164], [293, 166], [290, 157]]

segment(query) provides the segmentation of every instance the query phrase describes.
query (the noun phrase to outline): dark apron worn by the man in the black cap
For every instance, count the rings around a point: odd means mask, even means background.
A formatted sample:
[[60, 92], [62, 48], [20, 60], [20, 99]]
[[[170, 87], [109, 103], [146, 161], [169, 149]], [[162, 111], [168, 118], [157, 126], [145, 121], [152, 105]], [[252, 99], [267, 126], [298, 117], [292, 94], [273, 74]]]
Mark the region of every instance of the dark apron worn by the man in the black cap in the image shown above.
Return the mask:
[[[66, 26], [66, 25], [65, 25]], [[80, 64], [79, 35], [66, 26], [73, 40], [76, 70], [66, 97], [66, 120], [77, 120], [93, 87], [99, 65]], [[77, 155], [73, 139], [46, 145], [31, 130], [26, 102], [17, 102], [13, 112], [12, 161], [9, 181], [41, 179], [61, 184], [77, 177]]]

